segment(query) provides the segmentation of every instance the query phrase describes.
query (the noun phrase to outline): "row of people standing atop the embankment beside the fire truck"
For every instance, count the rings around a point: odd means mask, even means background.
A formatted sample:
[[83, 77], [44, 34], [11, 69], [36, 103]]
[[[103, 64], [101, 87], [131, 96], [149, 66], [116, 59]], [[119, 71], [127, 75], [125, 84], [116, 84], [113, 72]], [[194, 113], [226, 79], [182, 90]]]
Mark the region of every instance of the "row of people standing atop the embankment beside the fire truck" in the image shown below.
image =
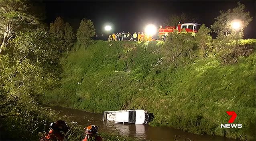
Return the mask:
[[120, 33], [113, 33], [112, 35], [108, 36], [109, 41], [117, 41], [117, 40], [132, 40], [132, 41], [151, 41], [152, 40], [152, 35], [146, 34], [144, 32], [134, 32], [132, 35], [127, 32], [120, 32]]

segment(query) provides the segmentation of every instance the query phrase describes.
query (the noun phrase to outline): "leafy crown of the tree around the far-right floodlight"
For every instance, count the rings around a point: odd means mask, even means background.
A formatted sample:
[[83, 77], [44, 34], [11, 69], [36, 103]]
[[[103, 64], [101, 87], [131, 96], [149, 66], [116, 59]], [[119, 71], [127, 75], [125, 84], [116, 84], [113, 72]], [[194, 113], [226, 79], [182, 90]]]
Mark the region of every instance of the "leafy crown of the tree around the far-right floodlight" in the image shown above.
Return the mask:
[[238, 38], [242, 38], [244, 28], [252, 21], [250, 12], [245, 12], [244, 9], [244, 4], [238, 2], [236, 8], [229, 9], [226, 12], [220, 11], [220, 15], [215, 18], [216, 21], [211, 25], [213, 32], [216, 32], [218, 36], [236, 34], [236, 30], [232, 29], [232, 21], [238, 19], [242, 21]]

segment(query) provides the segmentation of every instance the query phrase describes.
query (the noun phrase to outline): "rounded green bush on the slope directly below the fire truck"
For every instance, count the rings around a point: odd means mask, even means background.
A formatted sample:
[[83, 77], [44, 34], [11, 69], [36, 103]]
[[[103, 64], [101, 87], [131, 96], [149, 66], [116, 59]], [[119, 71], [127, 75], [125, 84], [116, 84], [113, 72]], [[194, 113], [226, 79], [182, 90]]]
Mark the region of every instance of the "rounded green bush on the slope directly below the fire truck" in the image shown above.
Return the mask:
[[162, 51], [171, 63], [177, 65], [177, 59], [181, 57], [192, 58], [194, 42], [195, 39], [191, 33], [175, 31], [167, 36]]

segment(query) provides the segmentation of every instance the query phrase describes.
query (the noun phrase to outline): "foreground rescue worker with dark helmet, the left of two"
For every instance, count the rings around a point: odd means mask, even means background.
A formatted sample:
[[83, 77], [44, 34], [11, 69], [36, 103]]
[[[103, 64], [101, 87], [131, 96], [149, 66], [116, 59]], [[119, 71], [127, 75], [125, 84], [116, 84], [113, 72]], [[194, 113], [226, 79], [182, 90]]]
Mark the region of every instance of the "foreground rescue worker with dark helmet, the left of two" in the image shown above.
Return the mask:
[[[70, 129], [65, 121], [56, 121], [50, 124], [49, 133], [40, 139], [40, 141], [64, 141], [65, 133]], [[63, 133], [64, 134], [63, 134]]]

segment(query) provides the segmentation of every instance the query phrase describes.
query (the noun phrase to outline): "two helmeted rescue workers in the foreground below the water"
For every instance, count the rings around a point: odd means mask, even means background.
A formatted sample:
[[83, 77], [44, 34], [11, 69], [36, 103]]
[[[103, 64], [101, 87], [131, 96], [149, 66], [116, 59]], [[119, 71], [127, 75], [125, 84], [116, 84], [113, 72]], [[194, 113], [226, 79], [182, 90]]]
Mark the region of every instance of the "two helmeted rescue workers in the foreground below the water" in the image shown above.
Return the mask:
[[[69, 131], [70, 127], [67, 126], [65, 121], [56, 121], [50, 124], [50, 131], [40, 141], [64, 141], [65, 134]], [[94, 139], [95, 141], [102, 141], [102, 137], [98, 136], [98, 127], [96, 125], [89, 125], [84, 128], [85, 138], [82, 141]]]

